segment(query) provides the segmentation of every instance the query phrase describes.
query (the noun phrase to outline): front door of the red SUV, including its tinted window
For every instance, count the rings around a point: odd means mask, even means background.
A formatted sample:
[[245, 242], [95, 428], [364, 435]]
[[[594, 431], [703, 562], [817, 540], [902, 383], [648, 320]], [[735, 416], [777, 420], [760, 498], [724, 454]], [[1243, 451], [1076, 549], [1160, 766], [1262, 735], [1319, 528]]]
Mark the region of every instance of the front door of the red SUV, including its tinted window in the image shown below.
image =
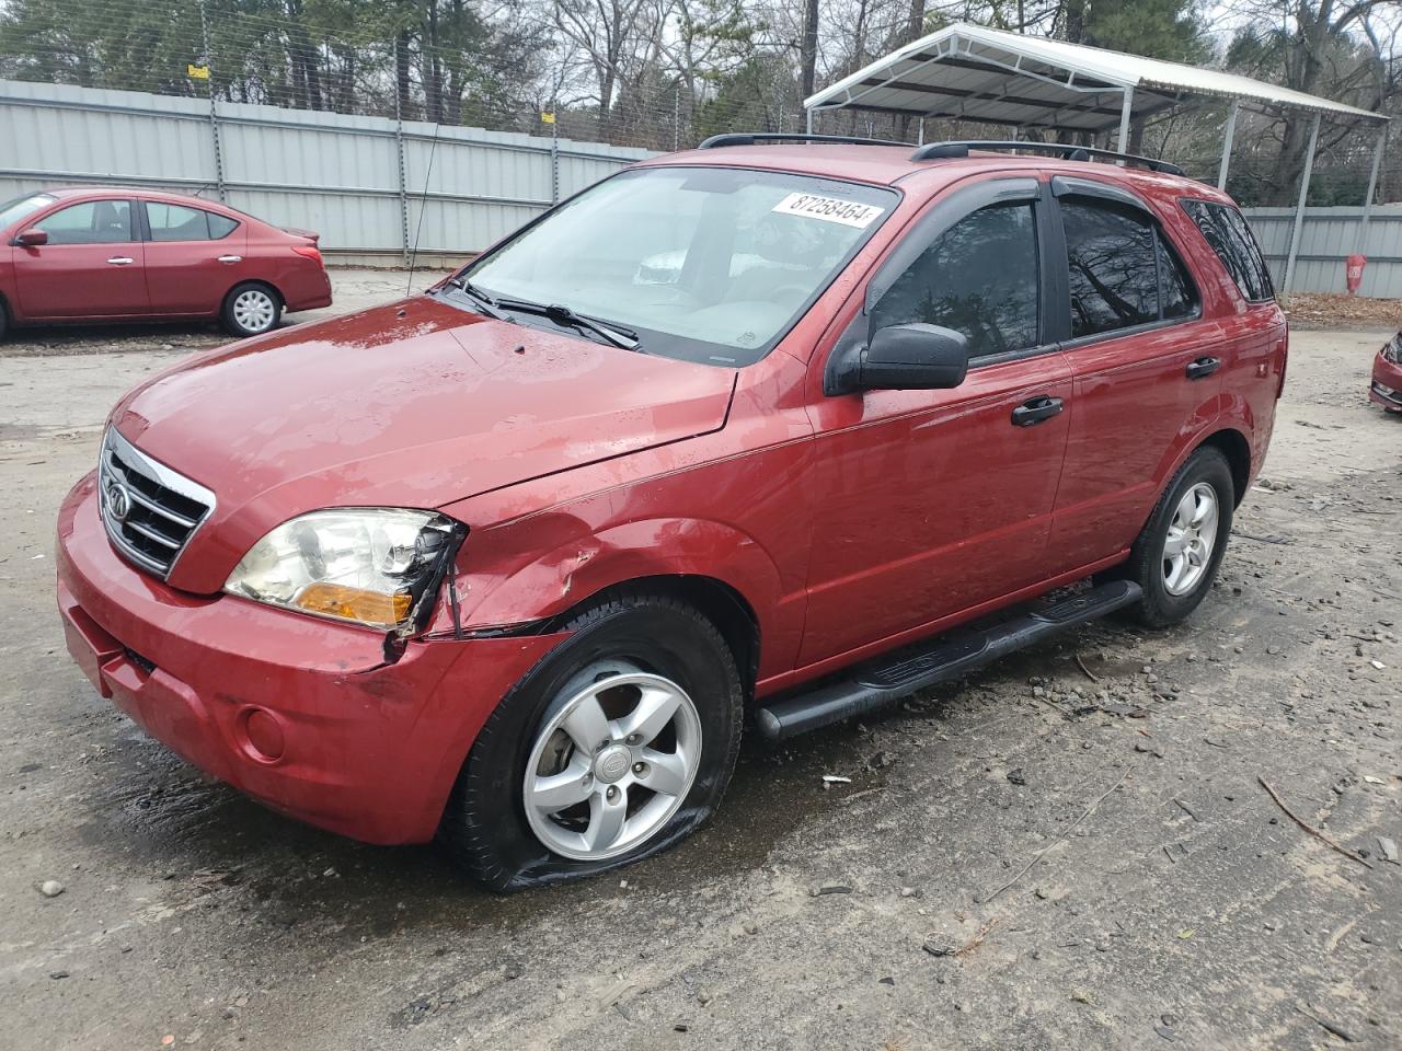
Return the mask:
[[1035, 178], [1004, 178], [948, 196], [872, 279], [855, 338], [942, 325], [967, 338], [970, 370], [953, 390], [812, 399], [802, 664], [1044, 579], [1073, 406], [1071, 370], [1043, 335], [1043, 193]]

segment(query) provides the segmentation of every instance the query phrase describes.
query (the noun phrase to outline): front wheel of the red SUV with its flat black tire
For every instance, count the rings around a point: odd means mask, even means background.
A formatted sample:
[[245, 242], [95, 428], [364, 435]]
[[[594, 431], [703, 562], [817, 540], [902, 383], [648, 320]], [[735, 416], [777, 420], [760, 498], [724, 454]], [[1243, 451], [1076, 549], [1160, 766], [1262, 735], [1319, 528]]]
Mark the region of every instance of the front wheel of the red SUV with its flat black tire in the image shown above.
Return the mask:
[[[740, 671], [697, 610], [629, 589], [589, 604], [564, 631], [569, 638], [488, 717], [439, 825], [439, 842], [495, 891], [667, 849], [715, 813], [739, 754]], [[669, 722], [658, 722], [672, 705]], [[590, 736], [592, 754], [580, 746]], [[566, 806], [550, 811], [557, 802]]]

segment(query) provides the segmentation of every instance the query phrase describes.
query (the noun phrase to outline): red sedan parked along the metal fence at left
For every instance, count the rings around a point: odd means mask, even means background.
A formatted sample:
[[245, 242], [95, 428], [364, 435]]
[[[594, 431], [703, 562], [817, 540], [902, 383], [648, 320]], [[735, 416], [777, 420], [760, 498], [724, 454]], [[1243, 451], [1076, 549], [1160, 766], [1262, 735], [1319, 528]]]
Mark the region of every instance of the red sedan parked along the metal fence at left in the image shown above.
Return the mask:
[[317, 234], [143, 189], [53, 189], [0, 205], [10, 325], [220, 318], [236, 335], [331, 305]]

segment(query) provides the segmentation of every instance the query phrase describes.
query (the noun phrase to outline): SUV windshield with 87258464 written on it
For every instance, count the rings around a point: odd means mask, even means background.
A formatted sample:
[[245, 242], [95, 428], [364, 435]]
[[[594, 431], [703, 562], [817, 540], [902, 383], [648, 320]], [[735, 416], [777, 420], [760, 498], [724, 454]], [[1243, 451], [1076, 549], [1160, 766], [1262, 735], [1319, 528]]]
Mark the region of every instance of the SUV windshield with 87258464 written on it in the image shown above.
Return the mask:
[[[645, 353], [743, 366], [802, 317], [897, 199], [787, 172], [642, 168], [550, 212], [464, 275], [494, 298], [631, 329]], [[550, 324], [502, 305], [522, 324]]]

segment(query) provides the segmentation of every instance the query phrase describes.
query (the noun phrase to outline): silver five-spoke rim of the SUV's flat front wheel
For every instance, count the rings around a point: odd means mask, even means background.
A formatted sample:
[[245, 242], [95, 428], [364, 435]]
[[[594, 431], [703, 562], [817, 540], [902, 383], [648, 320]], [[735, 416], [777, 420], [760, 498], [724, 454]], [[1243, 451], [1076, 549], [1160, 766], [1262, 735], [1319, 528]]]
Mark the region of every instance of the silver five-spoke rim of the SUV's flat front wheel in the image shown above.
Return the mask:
[[676, 814], [700, 767], [701, 717], [672, 680], [613, 661], [566, 689], [526, 764], [526, 820], [554, 853], [606, 860]]

